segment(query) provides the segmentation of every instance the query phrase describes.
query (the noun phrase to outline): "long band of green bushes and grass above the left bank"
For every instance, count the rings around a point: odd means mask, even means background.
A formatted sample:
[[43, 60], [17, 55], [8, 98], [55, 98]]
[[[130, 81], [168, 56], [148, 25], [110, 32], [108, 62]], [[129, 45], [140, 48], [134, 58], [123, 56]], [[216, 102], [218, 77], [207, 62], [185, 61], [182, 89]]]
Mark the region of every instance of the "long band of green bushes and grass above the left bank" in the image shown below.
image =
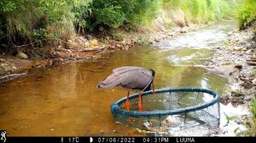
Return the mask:
[[[250, 0], [247, 0], [250, 1]], [[252, 1], [252, 0], [251, 0]], [[75, 30], [125, 30], [147, 25], [159, 10], [180, 8], [195, 23], [218, 20], [230, 12], [232, 0], [1, 0], [0, 42], [38, 43], [67, 40]], [[244, 14], [247, 20], [248, 15]]]

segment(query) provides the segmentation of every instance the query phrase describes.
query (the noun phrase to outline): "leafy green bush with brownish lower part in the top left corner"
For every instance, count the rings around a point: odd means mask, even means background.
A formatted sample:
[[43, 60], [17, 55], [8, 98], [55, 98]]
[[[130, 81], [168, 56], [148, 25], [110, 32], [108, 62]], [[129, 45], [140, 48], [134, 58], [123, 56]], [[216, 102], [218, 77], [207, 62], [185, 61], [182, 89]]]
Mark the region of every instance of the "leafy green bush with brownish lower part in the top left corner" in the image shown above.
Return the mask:
[[[0, 41], [36, 43], [44, 38], [69, 38], [73, 23], [80, 24], [71, 13], [88, 0], [2, 0], [0, 2]], [[24, 42], [22, 42], [24, 41]]]

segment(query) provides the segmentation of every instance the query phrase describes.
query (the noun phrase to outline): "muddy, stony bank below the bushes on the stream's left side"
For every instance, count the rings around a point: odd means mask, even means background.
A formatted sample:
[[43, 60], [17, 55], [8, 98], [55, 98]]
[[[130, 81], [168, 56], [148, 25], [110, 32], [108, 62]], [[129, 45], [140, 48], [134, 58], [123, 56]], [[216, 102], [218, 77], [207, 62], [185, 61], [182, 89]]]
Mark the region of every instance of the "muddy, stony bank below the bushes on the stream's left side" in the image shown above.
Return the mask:
[[0, 50], [0, 77], [25, 72], [32, 68], [65, 64], [73, 60], [96, 59], [104, 53], [159, 43], [162, 39], [178, 37], [181, 33], [194, 31], [203, 26], [207, 25], [191, 24], [183, 28], [173, 27], [165, 31], [117, 31], [111, 35], [108, 33], [107, 36], [79, 36], [73, 41], [61, 42], [54, 48], [35, 49], [38, 54], [32, 52], [31, 47], [24, 47], [21, 53], [25, 54], [25, 58], [19, 54], [12, 54], [16, 52]]

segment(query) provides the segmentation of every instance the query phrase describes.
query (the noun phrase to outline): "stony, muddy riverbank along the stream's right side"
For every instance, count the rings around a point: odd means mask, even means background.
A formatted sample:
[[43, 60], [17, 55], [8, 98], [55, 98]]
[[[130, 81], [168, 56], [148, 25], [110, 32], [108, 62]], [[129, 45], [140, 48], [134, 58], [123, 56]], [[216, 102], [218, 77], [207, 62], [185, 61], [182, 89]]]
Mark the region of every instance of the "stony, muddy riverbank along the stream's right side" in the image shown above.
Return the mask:
[[[215, 54], [207, 62], [206, 72], [228, 78], [230, 88], [221, 94], [224, 105], [246, 106], [251, 112], [247, 115], [234, 116], [233, 122], [247, 127], [236, 135], [254, 135], [253, 99], [256, 98], [256, 43], [253, 26], [245, 31], [230, 31], [228, 39], [218, 46]], [[238, 127], [237, 127], [238, 128]], [[236, 132], [236, 130], [234, 130]]]

